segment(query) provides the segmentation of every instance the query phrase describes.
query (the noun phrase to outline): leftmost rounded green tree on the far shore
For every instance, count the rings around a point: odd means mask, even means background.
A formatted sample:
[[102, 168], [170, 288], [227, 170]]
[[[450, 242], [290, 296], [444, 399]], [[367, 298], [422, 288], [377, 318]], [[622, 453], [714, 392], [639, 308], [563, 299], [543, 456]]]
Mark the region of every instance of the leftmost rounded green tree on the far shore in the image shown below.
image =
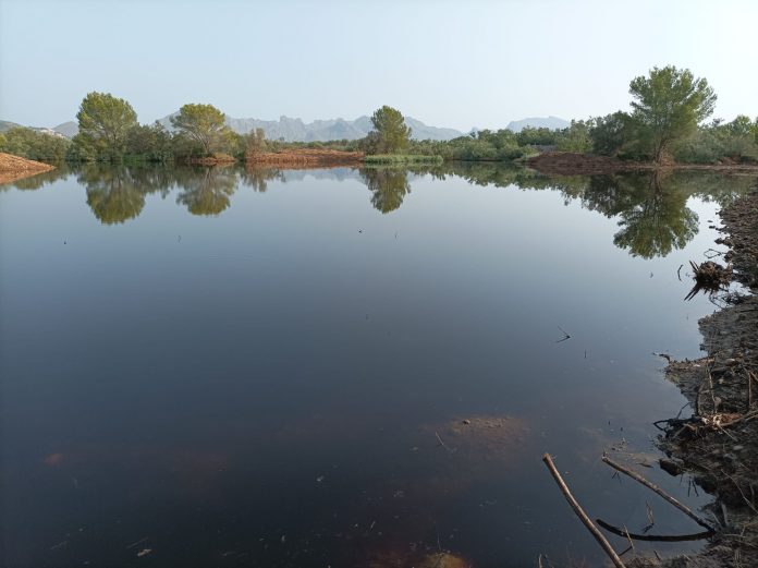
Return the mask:
[[109, 93], [88, 93], [76, 113], [80, 133], [75, 142], [97, 157], [119, 158], [130, 131], [137, 125], [137, 113], [122, 98]]

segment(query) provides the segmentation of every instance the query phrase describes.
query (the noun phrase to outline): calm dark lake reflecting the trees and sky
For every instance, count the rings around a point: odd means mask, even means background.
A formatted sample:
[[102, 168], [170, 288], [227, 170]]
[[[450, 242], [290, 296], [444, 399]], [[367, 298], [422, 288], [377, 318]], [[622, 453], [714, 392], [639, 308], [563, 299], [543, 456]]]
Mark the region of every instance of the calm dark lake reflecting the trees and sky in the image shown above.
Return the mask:
[[684, 301], [688, 261], [753, 184], [444, 165], [0, 186], [2, 566], [597, 566], [546, 451], [590, 517], [699, 532], [600, 457], [709, 503], [655, 461], [685, 401], [653, 352], [699, 356], [716, 307]]

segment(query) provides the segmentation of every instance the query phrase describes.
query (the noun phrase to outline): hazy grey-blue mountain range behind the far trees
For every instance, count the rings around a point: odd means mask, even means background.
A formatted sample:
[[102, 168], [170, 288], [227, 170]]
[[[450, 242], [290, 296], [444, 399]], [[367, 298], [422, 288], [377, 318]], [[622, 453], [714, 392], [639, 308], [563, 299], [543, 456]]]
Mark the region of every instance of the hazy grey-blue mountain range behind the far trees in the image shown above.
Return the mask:
[[[168, 130], [173, 130], [171, 125], [171, 117], [163, 117], [160, 122]], [[429, 126], [420, 120], [413, 117], [405, 117], [405, 123], [411, 126], [411, 136], [414, 140], [435, 140], [445, 141], [465, 136], [465, 134], [455, 129], [445, 129], [438, 126]], [[363, 138], [371, 130], [371, 119], [369, 117], [358, 117], [355, 120], [344, 119], [328, 119], [315, 120], [313, 122], [303, 122], [302, 119], [292, 119], [289, 117], [280, 117], [279, 120], [260, 120], [260, 119], [235, 119], [227, 117], [227, 124], [234, 132], [247, 134], [254, 129], [264, 129], [266, 137], [269, 140], [284, 140], [285, 142], [326, 142], [330, 140], [357, 140]], [[547, 118], [528, 118], [516, 120], [506, 126], [508, 129], [519, 132], [526, 126], [549, 128], [549, 129], [565, 129], [568, 126], [568, 121], [558, 117]], [[0, 120], [0, 133], [12, 128], [21, 126], [15, 122]], [[69, 121], [58, 124], [52, 129], [29, 126], [38, 132], [47, 134], [62, 135], [68, 138], [73, 137], [78, 132], [76, 122]], [[475, 131], [475, 129], [473, 129]]]

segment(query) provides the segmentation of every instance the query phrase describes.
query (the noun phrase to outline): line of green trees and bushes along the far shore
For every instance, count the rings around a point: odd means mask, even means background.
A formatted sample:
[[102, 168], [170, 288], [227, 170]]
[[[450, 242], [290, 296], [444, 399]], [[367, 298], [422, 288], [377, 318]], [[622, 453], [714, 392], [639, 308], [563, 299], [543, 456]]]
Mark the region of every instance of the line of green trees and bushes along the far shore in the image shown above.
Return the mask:
[[266, 140], [261, 129], [233, 132], [211, 105], [184, 105], [171, 118], [171, 131], [158, 122], [139, 124], [124, 99], [89, 93], [76, 114], [80, 132], [72, 140], [15, 128], [0, 134], [0, 152], [46, 161], [167, 162], [255, 160], [262, 152], [325, 148], [363, 152], [367, 161], [377, 164], [409, 164], [505, 161], [558, 150], [640, 161], [758, 164], [758, 117], [706, 122], [717, 97], [705, 78], [674, 67], [653, 68], [631, 82], [629, 94], [632, 112], [574, 120], [562, 130], [481, 130], [443, 142], [415, 141], [403, 114], [384, 106], [372, 114], [375, 130], [364, 138], [297, 143]]

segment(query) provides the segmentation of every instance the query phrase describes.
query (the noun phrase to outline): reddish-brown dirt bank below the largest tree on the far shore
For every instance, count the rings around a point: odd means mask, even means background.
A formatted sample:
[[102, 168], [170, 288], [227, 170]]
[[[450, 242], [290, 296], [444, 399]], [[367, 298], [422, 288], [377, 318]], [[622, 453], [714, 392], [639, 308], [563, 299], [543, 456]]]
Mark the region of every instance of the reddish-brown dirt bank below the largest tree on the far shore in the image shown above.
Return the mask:
[[662, 165], [643, 161], [627, 161], [610, 156], [576, 154], [573, 152], [549, 152], [526, 160], [527, 165], [542, 173], [559, 176], [615, 173], [619, 171], [640, 171], [667, 169], [716, 170], [716, 171], [756, 171], [758, 165], [749, 164], [676, 164], [668, 161]]

